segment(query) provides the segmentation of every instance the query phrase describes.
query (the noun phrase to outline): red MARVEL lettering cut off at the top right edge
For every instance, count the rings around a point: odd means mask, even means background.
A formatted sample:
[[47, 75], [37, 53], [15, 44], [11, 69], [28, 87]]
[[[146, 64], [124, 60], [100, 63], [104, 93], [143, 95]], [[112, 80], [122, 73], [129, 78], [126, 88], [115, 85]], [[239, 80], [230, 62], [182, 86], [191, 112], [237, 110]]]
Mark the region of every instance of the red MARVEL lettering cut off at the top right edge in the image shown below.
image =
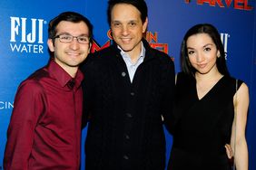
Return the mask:
[[[234, 9], [251, 11], [253, 7], [249, 5], [248, 0], [193, 0], [197, 5], [208, 4], [210, 6], [233, 7]], [[253, 1], [251, 1], [253, 2]], [[185, 0], [185, 3], [190, 4], [192, 0]]]

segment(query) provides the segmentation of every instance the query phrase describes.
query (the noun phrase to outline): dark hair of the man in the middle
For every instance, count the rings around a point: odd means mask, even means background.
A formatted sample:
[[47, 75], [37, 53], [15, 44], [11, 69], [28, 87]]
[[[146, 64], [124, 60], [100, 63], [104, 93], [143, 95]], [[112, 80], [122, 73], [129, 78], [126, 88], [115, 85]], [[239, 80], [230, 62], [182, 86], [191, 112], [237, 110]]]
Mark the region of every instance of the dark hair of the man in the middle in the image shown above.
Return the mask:
[[144, 0], [109, 0], [107, 8], [107, 20], [109, 25], [111, 25], [111, 13], [113, 6], [118, 4], [133, 5], [141, 13], [142, 22], [144, 23], [146, 21], [146, 18], [148, 17], [148, 7]]

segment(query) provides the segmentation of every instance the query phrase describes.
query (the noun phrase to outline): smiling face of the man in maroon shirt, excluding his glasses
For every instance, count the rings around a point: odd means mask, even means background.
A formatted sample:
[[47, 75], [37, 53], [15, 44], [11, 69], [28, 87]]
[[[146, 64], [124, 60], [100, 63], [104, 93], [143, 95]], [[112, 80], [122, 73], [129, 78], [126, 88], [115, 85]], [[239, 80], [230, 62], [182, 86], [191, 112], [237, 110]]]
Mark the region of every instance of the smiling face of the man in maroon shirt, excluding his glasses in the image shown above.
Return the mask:
[[[89, 36], [89, 30], [84, 22], [60, 22], [56, 27], [56, 35]], [[53, 42], [54, 41], [54, 42]], [[54, 52], [54, 61], [70, 75], [75, 75], [78, 66], [90, 52], [90, 44], [81, 44], [74, 38], [72, 42], [60, 42], [59, 38], [48, 39], [48, 47]]]

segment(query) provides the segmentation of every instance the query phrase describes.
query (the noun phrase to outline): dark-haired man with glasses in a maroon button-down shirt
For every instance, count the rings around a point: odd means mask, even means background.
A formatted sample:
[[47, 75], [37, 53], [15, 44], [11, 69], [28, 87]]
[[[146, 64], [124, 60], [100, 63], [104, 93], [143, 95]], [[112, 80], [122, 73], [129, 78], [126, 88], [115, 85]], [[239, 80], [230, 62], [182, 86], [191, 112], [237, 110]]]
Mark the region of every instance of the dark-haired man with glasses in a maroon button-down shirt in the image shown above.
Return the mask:
[[78, 67], [91, 47], [93, 26], [74, 12], [55, 17], [48, 28], [48, 65], [19, 86], [7, 131], [4, 168], [80, 168], [83, 73]]

